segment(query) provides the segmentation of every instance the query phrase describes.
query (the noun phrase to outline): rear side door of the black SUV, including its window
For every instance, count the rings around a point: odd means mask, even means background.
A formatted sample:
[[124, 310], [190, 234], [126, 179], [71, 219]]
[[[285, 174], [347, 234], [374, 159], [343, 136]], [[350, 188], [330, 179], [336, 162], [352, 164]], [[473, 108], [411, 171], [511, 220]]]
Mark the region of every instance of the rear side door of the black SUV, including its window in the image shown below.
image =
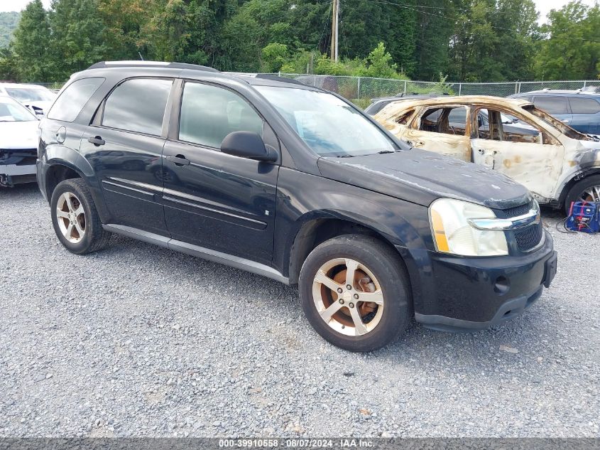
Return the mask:
[[170, 78], [120, 82], [82, 136], [81, 154], [99, 178], [112, 223], [168, 235], [161, 155], [172, 87]]

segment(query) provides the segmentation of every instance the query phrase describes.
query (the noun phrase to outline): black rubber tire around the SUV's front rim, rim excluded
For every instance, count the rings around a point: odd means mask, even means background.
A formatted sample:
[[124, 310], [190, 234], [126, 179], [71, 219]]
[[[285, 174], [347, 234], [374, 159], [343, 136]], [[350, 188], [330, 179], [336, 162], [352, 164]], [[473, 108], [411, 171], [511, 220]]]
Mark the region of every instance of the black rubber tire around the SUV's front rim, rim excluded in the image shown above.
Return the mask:
[[[362, 336], [348, 336], [334, 330], [315, 306], [312, 288], [317, 271], [337, 258], [354, 259], [364, 264], [381, 286], [383, 315], [373, 330]], [[410, 282], [400, 256], [375, 237], [342, 235], [323, 242], [302, 264], [298, 287], [302, 309], [311, 326], [326, 341], [344, 350], [370, 352], [392, 343], [405, 331], [413, 316]]]

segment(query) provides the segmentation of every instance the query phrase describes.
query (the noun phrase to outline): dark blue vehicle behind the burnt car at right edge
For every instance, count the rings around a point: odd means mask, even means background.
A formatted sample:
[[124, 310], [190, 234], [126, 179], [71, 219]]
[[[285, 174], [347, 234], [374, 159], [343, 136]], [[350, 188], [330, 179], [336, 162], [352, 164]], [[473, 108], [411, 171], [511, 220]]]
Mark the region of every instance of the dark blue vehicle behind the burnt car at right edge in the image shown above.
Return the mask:
[[539, 90], [511, 95], [532, 102], [538, 109], [583, 134], [600, 135], [600, 93], [591, 90]]

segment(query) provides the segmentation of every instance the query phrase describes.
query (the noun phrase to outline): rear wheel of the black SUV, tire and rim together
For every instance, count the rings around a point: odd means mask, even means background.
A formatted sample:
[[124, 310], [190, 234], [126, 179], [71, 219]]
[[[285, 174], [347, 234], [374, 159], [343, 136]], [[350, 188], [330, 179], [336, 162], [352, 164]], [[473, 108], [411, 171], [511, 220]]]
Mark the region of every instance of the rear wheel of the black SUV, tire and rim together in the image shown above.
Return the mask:
[[107, 245], [110, 233], [102, 228], [92, 195], [82, 179], [58, 183], [50, 210], [58, 240], [70, 252], [82, 255]]

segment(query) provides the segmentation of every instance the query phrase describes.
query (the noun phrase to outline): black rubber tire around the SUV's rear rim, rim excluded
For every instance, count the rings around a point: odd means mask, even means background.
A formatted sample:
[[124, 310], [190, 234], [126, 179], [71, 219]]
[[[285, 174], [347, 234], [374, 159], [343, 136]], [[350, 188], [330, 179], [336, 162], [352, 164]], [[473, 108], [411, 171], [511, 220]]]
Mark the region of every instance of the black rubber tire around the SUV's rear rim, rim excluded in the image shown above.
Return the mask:
[[[63, 235], [58, 224], [57, 205], [60, 196], [63, 193], [72, 193], [80, 200], [84, 210], [84, 233], [80, 242], [70, 242]], [[94, 205], [92, 194], [89, 193], [85, 181], [81, 178], [73, 178], [70, 180], [61, 181], [52, 193], [50, 199], [50, 213], [52, 216], [52, 225], [58, 240], [65, 246], [67, 250], [76, 255], [84, 255], [86, 253], [96, 252], [105, 247], [110, 239], [110, 233], [104, 230], [102, 222]]]

